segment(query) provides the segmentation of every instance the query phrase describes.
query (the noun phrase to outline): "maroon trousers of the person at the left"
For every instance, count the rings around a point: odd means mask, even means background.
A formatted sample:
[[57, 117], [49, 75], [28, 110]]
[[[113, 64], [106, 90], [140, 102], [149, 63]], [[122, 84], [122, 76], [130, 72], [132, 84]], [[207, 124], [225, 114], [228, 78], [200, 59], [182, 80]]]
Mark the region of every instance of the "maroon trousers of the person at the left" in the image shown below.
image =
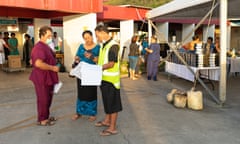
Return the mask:
[[50, 106], [52, 104], [53, 86], [34, 84], [37, 94], [37, 112], [38, 121], [43, 121], [49, 118]]

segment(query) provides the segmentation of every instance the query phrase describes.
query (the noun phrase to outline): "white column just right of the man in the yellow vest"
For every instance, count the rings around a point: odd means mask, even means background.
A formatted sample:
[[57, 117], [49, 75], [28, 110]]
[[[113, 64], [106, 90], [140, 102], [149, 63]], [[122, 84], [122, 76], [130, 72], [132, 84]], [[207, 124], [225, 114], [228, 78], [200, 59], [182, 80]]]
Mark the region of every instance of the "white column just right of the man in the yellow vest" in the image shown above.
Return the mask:
[[124, 52], [124, 58], [128, 59], [129, 45], [131, 43], [131, 38], [134, 35], [134, 21], [126, 20], [120, 21], [120, 54], [122, 55], [122, 49], [124, 46], [127, 48]]

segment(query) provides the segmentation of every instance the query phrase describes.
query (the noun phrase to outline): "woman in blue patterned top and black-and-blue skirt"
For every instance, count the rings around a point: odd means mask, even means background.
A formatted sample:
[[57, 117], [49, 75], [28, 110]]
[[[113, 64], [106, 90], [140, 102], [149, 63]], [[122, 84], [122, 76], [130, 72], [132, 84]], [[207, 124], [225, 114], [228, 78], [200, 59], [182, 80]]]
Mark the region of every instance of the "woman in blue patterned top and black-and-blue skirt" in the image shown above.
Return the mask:
[[[74, 63], [77, 64], [79, 61], [83, 61], [96, 64], [100, 46], [93, 42], [91, 31], [84, 31], [82, 37], [85, 43], [79, 46]], [[87, 115], [89, 121], [95, 121], [97, 114], [97, 86], [82, 86], [81, 79], [77, 79], [77, 93], [76, 114], [73, 115], [72, 120]]]

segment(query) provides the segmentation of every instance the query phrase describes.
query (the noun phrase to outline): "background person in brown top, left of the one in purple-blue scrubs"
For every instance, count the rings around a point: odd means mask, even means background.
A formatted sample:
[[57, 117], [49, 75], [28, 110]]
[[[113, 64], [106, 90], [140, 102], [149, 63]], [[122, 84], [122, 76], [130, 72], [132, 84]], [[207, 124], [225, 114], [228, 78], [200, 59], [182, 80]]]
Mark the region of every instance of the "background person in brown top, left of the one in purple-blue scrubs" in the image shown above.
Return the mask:
[[138, 36], [133, 36], [131, 40], [131, 44], [129, 46], [129, 72], [130, 72], [130, 79], [136, 80], [135, 77], [135, 70], [138, 62], [139, 57], [139, 45], [137, 45]]

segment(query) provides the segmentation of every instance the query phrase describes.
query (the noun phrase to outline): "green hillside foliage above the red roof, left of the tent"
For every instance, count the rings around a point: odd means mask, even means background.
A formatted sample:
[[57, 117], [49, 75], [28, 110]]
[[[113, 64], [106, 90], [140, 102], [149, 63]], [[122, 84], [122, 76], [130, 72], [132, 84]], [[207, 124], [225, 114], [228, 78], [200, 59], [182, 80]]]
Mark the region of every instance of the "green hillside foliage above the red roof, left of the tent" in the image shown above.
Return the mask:
[[104, 4], [109, 5], [137, 5], [155, 8], [172, 0], [106, 0]]

